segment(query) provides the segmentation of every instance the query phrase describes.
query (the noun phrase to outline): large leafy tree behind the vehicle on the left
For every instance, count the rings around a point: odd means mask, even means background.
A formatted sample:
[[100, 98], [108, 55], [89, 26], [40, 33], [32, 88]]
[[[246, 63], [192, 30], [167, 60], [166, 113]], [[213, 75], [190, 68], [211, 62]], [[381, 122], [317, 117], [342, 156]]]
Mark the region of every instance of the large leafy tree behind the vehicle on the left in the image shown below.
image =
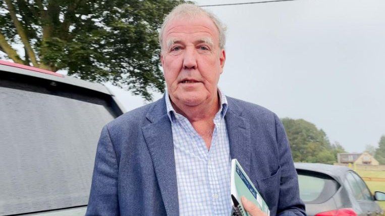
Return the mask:
[[[95, 82], [151, 100], [164, 91], [157, 30], [183, 0], [0, 0], [0, 51], [16, 63]], [[20, 56], [15, 49], [25, 50]]]

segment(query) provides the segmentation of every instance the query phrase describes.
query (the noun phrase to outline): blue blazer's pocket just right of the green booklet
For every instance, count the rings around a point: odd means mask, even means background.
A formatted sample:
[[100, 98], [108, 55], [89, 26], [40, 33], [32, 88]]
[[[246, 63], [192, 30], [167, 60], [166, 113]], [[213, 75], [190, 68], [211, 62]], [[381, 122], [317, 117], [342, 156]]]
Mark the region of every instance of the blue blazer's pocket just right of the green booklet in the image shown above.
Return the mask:
[[270, 210], [272, 206], [277, 206], [280, 195], [281, 166], [276, 171], [271, 172], [271, 176], [257, 180], [259, 193], [262, 195]]

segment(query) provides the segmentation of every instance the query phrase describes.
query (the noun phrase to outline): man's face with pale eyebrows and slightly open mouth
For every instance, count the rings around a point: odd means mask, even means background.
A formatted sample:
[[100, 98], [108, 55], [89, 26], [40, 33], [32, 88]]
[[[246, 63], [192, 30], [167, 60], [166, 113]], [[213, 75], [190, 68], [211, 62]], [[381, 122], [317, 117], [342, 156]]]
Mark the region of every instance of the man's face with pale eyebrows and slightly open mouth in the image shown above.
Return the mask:
[[226, 54], [219, 48], [218, 30], [208, 17], [170, 21], [164, 29], [160, 58], [174, 103], [197, 106], [216, 99]]

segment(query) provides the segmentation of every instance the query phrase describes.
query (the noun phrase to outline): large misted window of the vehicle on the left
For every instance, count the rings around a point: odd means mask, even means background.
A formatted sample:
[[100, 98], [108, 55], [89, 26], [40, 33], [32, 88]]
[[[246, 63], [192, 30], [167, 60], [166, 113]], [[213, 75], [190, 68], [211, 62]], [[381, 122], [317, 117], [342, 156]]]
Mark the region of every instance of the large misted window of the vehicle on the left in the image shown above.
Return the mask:
[[101, 128], [117, 115], [106, 95], [0, 77], [0, 215], [86, 205]]

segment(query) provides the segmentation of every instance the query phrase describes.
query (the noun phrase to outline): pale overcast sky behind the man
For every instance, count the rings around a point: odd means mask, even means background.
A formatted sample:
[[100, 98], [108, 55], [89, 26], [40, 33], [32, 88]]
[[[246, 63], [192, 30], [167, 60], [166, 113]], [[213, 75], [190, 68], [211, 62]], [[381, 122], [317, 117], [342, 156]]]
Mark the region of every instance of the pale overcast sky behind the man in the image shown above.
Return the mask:
[[[348, 152], [377, 147], [385, 134], [385, 1], [297, 0], [206, 9], [228, 26], [219, 81], [227, 95], [281, 118], [310, 121]], [[115, 92], [128, 110], [144, 103]]]

